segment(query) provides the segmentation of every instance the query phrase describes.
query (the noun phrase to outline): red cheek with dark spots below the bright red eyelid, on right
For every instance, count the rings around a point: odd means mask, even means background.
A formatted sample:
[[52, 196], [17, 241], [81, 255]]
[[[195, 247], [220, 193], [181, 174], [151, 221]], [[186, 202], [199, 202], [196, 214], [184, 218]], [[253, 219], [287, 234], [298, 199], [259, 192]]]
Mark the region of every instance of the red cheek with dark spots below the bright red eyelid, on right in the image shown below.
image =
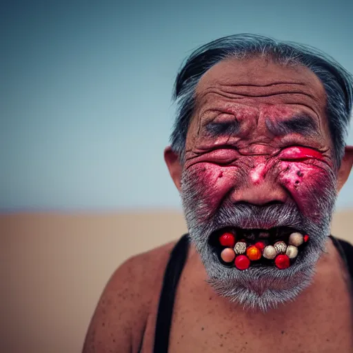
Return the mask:
[[305, 163], [281, 162], [279, 182], [290, 192], [302, 214], [319, 220], [320, 208], [332, 201], [335, 179], [329, 170]]

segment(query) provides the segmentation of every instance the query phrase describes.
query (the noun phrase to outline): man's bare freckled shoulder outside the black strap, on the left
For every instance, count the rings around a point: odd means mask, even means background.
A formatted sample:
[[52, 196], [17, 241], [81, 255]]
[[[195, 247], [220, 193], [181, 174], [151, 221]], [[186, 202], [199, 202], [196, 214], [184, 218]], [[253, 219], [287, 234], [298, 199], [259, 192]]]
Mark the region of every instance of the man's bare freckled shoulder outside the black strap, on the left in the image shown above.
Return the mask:
[[92, 316], [83, 353], [138, 352], [175, 243], [132, 256], [112, 274]]

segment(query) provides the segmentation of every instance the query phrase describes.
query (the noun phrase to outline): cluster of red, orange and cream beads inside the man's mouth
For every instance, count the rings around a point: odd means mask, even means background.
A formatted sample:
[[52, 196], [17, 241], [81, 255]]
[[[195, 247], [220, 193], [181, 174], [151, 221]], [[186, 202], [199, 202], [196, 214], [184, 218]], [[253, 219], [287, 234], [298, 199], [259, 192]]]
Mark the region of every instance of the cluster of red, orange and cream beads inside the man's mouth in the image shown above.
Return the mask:
[[233, 232], [223, 232], [219, 236], [219, 243], [223, 248], [220, 256], [224, 263], [234, 263], [238, 270], [246, 270], [251, 263], [261, 259], [273, 261], [276, 268], [283, 270], [290, 267], [290, 261], [298, 255], [299, 247], [308, 240], [308, 235], [292, 232], [288, 238], [288, 245], [281, 240], [276, 241], [273, 245], [266, 245], [264, 241], [250, 244], [245, 239], [236, 241]]

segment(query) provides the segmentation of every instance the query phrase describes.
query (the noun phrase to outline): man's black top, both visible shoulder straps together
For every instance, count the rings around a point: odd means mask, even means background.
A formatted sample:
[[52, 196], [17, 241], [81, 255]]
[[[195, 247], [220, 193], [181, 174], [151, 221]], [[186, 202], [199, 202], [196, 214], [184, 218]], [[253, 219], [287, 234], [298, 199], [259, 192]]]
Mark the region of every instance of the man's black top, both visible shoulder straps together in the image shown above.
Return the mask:
[[[353, 246], [350, 243], [347, 243], [347, 241], [336, 239], [332, 235], [330, 235], [330, 238], [347, 266], [351, 279], [351, 293], [353, 293]], [[168, 352], [174, 299], [181, 272], [183, 271], [188, 256], [188, 250], [189, 239], [188, 234], [185, 234], [178, 241], [177, 245], [174, 246], [174, 249], [170, 254], [168, 265], [165, 268], [161, 296], [159, 297], [156, 331], [154, 333], [154, 353]]]

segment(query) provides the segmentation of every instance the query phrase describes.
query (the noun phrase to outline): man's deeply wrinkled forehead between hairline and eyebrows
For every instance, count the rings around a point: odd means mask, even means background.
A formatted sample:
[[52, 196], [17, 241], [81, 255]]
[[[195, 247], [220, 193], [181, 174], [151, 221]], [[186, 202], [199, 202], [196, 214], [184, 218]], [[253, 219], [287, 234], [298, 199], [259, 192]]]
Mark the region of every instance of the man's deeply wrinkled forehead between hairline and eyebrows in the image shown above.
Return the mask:
[[228, 100], [245, 105], [302, 105], [325, 119], [326, 93], [319, 77], [303, 65], [266, 58], [225, 59], [203, 74], [196, 107]]

